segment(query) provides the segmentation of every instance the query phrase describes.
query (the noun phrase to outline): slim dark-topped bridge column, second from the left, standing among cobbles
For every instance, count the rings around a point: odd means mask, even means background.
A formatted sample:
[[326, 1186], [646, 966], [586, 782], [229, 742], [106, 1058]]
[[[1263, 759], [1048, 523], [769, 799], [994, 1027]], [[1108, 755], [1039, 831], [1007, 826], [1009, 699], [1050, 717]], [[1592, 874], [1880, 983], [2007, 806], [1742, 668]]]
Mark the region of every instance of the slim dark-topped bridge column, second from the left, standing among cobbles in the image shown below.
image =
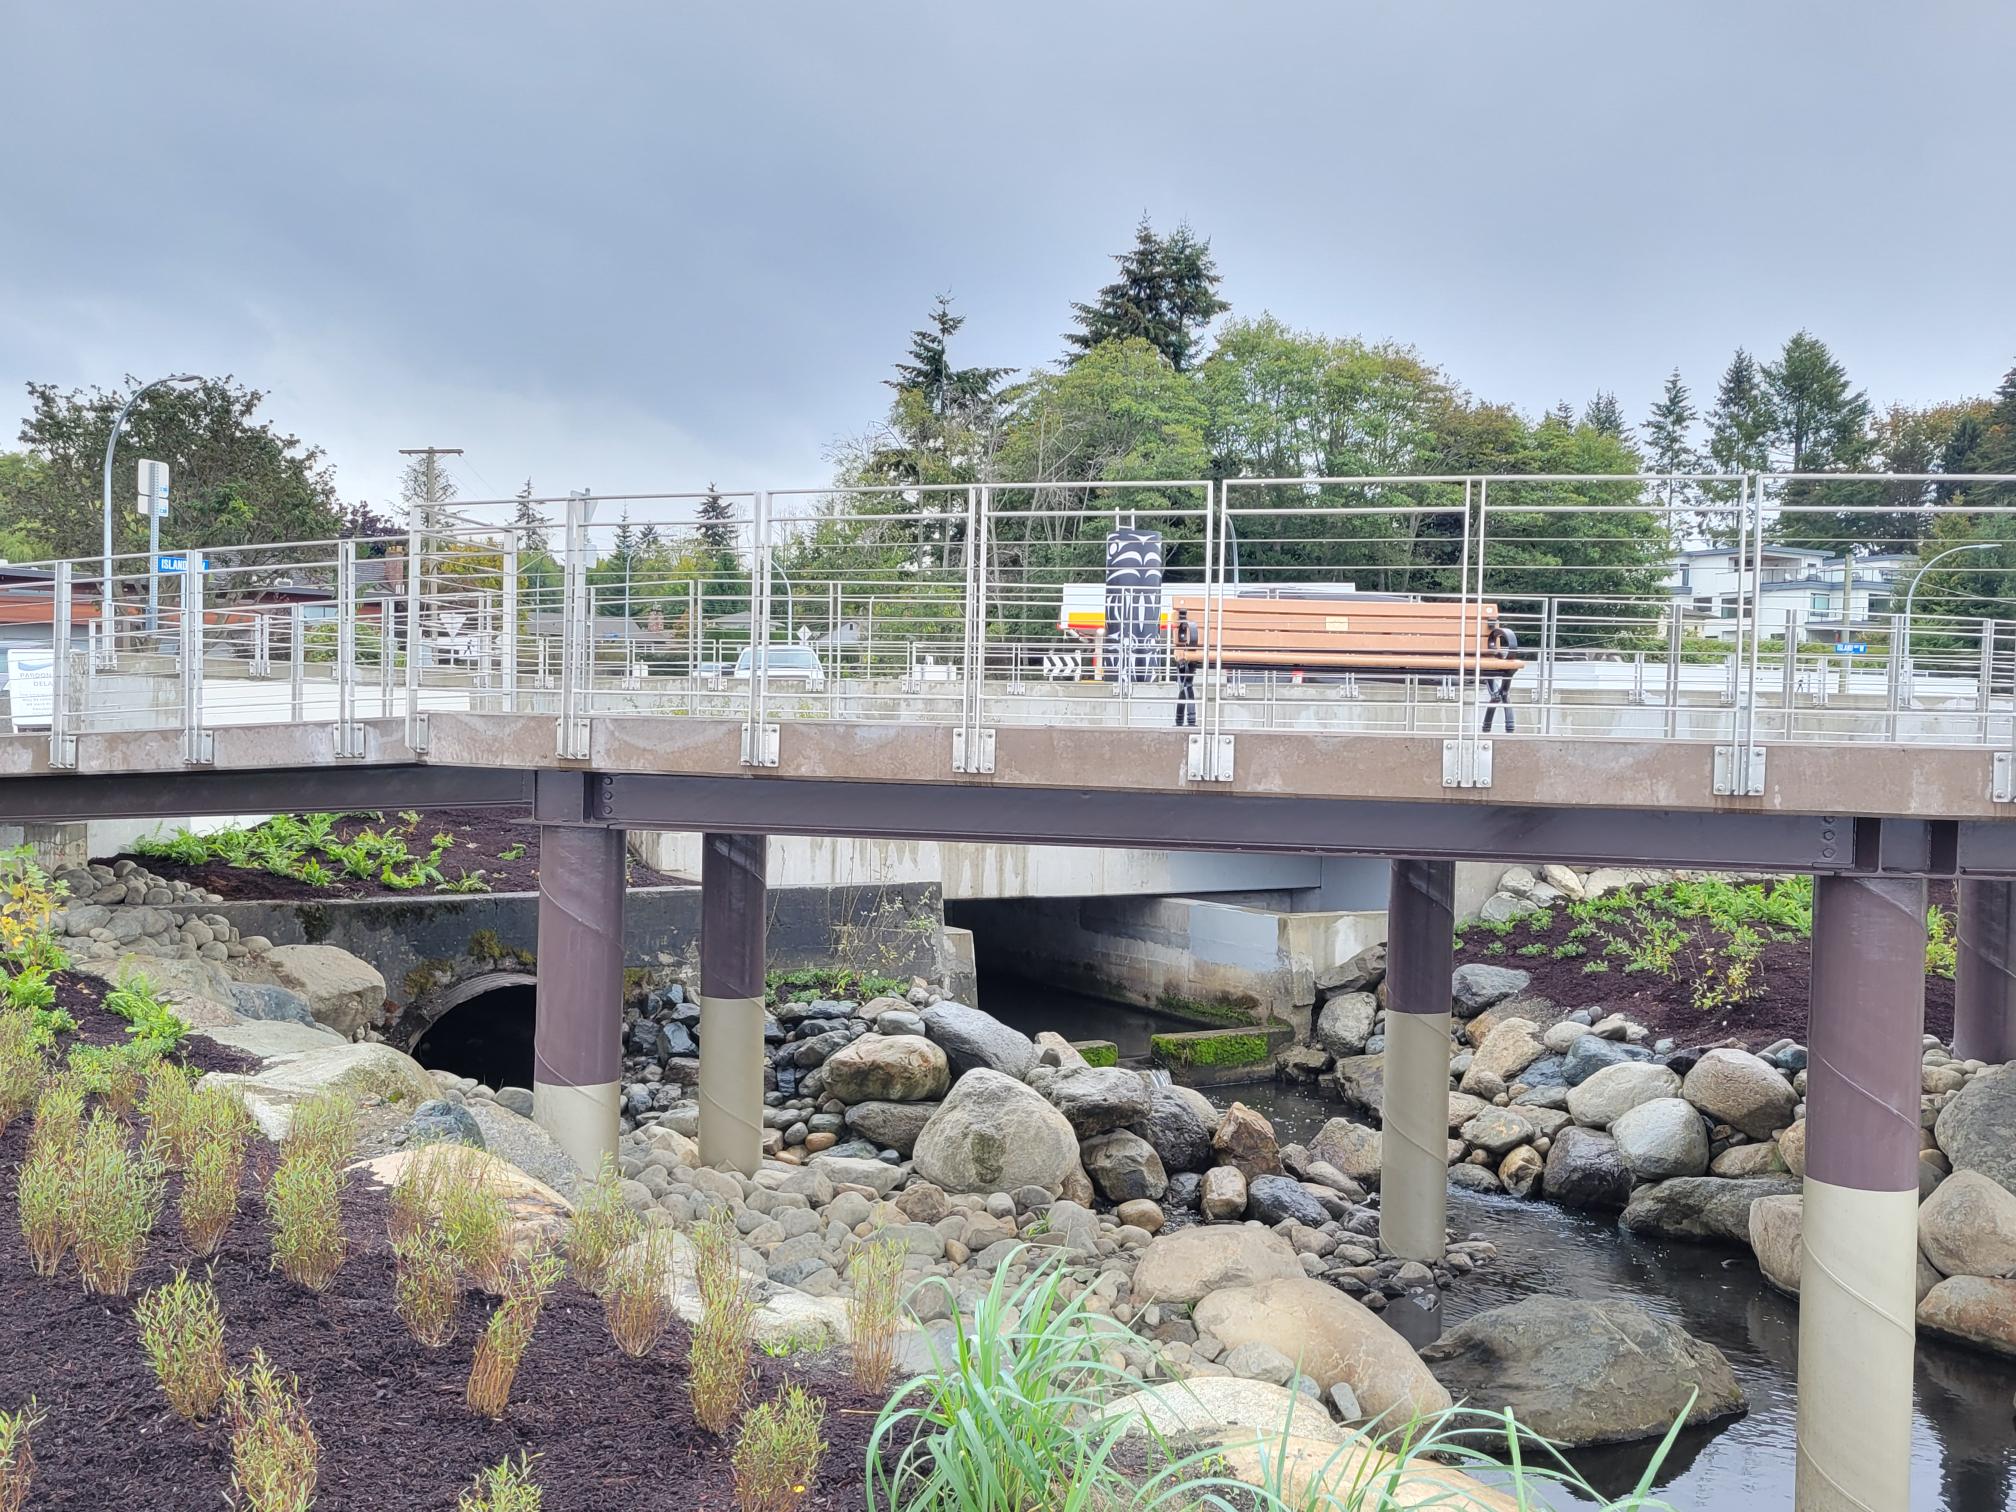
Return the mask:
[[764, 837], [700, 841], [700, 1159], [762, 1161]]

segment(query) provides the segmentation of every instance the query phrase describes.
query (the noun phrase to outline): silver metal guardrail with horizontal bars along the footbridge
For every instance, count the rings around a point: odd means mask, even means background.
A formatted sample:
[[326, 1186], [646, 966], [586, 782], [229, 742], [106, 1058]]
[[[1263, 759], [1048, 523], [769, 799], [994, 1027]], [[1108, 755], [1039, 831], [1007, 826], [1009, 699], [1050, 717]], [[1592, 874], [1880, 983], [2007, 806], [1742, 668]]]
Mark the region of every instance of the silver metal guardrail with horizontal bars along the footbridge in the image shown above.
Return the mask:
[[[1976, 496], [1941, 498], [1956, 484]], [[0, 597], [46, 595], [14, 623], [42, 619], [62, 655], [46, 698], [24, 685], [12, 702], [58, 766], [109, 730], [175, 730], [183, 762], [204, 764], [214, 728], [258, 722], [327, 722], [357, 758], [363, 720], [403, 718], [425, 748], [427, 714], [454, 708], [550, 716], [560, 758], [627, 716], [734, 720], [752, 766], [800, 722], [943, 726], [970, 772], [992, 770], [998, 726], [1161, 724], [1193, 732], [1198, 780], [1230, 776], [1242, 732], [1308, 730], [1439, 734], [1452, 786], [1488, 784], [1494, 742], [1526, 736], [1714, 742], [1732, 794], [1760, 790], [1764, 750], [1784, 742], [1986, 746], [2008, 784], [2006, 484], [1452, 474], [571, 496], [532, 502], [550, 524], [476, 518], [510, 500], [417, 510], [403, 536], [117, 556], [109, 581], [99, 558], [10, 569]], [[1151, 613], [1107, 627], [1123, 532], [1151, 532], [1159, 589], [1115, 599]], [[1339, 613], [1268, 617], [1268, 599]], [[1335, 653], [1389, 605], [1417, 607], [1439, 651], [1397, 637], [1393, 653]], [[1240, 619], [1274, 625], [1268, 655], [1228, 645]]]

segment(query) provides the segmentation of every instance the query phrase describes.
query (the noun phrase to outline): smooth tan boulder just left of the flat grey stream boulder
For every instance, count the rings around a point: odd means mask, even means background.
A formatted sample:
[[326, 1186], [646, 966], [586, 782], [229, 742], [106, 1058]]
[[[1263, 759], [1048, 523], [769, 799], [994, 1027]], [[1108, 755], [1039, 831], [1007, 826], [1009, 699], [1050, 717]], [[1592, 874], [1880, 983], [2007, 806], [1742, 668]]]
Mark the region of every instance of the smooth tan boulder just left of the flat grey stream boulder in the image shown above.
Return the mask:
[[1226, 1349], [1270, 1345], [1325, 1391], [1343, 1383], [1367, 1417], [1443, 1411], [1450, 1393], [1377, 1312], [1329, 1282], [1294, 1276], [1214, 1290], [1191, 1312]]

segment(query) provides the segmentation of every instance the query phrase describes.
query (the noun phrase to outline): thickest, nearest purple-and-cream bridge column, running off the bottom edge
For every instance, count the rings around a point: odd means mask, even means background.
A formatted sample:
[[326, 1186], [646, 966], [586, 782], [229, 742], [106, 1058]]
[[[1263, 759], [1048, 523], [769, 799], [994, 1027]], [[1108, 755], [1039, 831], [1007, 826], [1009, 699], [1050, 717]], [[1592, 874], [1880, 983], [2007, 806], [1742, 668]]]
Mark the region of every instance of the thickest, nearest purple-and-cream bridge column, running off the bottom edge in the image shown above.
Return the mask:
[[1798, 1512], [1911, 1500], [1925, 883], [1816, 877]]

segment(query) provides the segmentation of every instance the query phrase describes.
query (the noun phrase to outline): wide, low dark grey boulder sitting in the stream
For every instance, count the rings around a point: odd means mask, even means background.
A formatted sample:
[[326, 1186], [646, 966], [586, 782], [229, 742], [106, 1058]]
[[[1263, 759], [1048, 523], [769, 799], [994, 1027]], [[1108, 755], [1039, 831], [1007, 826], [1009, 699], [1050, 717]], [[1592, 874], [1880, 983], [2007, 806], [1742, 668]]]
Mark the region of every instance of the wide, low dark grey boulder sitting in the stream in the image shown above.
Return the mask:
[[1510, 1409], [1570, 1447], [1659, 1437], [1681, 1413], [1699, 1425], [1748, 1407], [1720, 1349], [1635, 1302], [1528, 1296], [1460, 1322], [1421, 1359], [1472, 1407]]

